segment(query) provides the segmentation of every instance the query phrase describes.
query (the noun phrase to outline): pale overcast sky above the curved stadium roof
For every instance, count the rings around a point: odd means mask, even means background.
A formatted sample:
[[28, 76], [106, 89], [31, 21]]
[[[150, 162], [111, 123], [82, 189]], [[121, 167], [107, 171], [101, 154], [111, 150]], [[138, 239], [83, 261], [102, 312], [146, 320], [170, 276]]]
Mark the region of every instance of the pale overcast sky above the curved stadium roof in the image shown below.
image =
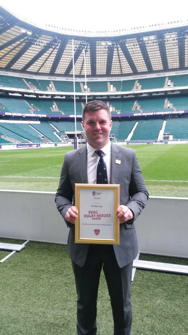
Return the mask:
[[12, 13], [41, 25], [48, 23], [92, 31], [188, 19], [186, 0], [135, 0], [128, 3], [126, 0], [1, 0], [1, 4]]

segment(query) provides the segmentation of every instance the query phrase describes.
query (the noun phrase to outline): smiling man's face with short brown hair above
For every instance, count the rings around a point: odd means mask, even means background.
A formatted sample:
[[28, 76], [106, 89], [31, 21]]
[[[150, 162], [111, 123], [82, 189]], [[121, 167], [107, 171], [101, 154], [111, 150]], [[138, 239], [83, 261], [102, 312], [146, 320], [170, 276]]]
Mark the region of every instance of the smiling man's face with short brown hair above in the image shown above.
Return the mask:
[[100, 150], [109, 142], [109, 134], [112, 128], [112, 120], [105, 109], [87, 112], [82, 121], [87, 141], [93, 148]]

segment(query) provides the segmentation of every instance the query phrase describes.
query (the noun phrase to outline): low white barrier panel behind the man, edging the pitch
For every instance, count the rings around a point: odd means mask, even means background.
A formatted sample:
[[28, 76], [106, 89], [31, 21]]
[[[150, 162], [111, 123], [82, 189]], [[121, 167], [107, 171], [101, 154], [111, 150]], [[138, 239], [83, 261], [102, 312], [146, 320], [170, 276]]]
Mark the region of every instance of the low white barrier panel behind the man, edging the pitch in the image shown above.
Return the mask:
[[[0, 236], [67, 243], [54, 192], [0, 190]], [[188, 258], [188, 198], [150, 197], [135, 221], [140, 253]]]

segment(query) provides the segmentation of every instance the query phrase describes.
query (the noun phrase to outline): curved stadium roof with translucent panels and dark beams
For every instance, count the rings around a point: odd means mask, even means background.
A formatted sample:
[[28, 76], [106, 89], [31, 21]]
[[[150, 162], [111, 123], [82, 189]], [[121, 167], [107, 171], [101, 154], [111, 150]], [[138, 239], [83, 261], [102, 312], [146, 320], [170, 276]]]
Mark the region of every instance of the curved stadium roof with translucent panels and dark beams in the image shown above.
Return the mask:
[[0, 69], [73, 76], [122, 76], [188, 68], [188, 22], [126, 31], [39, 27], [0, 6]]

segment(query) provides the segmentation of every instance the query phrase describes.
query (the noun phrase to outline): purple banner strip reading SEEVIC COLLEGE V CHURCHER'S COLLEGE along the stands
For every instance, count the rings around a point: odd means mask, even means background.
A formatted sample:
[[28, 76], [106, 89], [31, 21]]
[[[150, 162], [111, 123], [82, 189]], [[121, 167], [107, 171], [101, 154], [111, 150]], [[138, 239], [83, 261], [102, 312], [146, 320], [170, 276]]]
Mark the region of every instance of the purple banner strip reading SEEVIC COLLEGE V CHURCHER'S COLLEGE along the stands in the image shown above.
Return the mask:
[[[122, 116], [145, 116], [145, 115], [176, 115], [176, 114], [186, 114], [188, 110], [183, 111], [165, 111], [165, 112], [151, 112], [151, 113], [130, 113], [130, 114], [112, 114], [112, 118], [122, 117]], [[28, 116], [28, 117], [35, 117], [35, 118], [74, 118], [74, 115], [67, 115], [67, 114], [29, 114], [29, 113], [10, 113], [10, 112], [2, 112], [0, 111], [0, 115], [7, 115], [7, 116]], [[82, 118], [82, 115], [77, 115], [77, 118]]]

